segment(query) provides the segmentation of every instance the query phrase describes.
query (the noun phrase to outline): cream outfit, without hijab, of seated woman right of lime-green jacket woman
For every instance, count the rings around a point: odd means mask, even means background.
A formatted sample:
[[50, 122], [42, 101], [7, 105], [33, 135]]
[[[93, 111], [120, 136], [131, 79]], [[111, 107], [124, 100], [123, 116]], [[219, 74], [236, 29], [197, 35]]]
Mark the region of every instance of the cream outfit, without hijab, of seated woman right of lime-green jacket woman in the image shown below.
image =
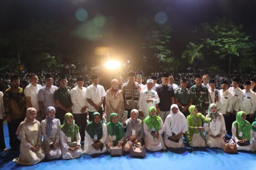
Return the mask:
[[[209, 115], [207, 115], [206, 118], [210, 118]], [[227, 134], [223, 114], [219, 113], [215, 122], [214, 120], [212, 120], [210, 123], [205, 123], [204, 131], [205, 131], [207, 145], [210, 148], [216, 147], [221, 149], [224, 145], [223, 137]], [[221, 134], [221, 136], [213, 138], [210, 135], [210, 133], [213, 134], [214, 136]]]

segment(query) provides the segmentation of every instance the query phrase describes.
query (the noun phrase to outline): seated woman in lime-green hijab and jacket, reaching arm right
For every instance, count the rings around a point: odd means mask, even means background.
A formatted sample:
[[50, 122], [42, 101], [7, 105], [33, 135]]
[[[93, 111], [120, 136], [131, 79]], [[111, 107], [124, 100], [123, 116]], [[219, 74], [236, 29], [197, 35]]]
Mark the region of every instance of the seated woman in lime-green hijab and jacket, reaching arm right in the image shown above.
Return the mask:
[[187, 116], [188, 131], [185, 133], [185, 139], [191, 147], [207, 146], [203, 134], [203, 123], [209, 123], [210, 118], [205, 118], [202, 113], [198, 113], [197, 107], [191, 105], [188, 108], [190, 115]]

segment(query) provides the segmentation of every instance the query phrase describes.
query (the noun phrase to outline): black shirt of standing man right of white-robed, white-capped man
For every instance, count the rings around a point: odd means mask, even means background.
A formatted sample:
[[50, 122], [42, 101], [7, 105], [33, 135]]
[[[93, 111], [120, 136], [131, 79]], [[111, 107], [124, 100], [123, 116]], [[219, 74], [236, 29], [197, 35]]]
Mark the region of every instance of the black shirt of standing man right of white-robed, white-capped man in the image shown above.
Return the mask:
[[160, 111], [166, 112], [171, 110], [171, 98], [174, 97], [174, 91], [170, 84], [167, 84], [164, 86], [163, 84], [160, 84], [155, 88], [155, 91], [157, 92], [160, 103], [158, 104]]

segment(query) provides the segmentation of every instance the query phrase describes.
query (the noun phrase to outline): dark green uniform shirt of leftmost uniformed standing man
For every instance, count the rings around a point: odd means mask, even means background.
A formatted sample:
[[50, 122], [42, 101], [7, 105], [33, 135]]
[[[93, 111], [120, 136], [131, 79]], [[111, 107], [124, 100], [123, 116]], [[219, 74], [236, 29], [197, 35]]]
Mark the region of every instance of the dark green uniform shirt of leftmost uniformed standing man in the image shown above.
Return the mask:
[[54, 100], [59, 100], [59, 103], [62, 104], [65, 108], [69, 108], [71, 103], [70, 98], [71, 88], [61, 88], [59, 87], [57, 90], [54, 91]]

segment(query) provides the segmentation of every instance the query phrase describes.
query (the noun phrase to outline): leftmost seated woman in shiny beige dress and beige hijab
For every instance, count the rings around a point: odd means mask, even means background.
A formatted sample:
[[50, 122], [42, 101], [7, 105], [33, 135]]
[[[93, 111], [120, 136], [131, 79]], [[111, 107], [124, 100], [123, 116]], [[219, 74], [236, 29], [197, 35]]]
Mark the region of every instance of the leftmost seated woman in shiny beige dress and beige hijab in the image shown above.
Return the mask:
[[13, 161], [21, 165], [34, 165], [44, 159], [41, 147], [42, 132], [40, 123], [36, 120], [37, 110], [27, 108], [26, 118], [19, 125], [16, 134], [21, 140], [20, 156]]

